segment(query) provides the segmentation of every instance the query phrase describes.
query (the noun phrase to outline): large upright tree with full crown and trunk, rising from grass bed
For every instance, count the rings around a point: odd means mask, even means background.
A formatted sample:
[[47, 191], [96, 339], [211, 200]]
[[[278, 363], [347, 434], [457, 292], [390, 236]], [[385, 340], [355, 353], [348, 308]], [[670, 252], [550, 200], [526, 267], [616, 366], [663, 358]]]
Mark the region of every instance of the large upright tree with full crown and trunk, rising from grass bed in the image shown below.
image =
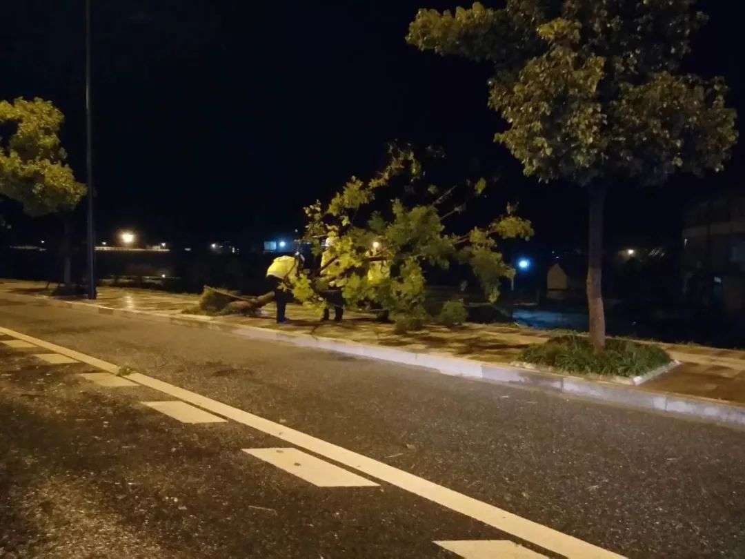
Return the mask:
[[406, 40], [492, 64], [495, 135], [542, 182], [589, 195], [590, 338], [605, 345], [603, 207], [610, 187], [720, 171], [737, 141], [722, 78], [681, 73], [696, 0], [507, 0], [503, 9], [419, 10]]

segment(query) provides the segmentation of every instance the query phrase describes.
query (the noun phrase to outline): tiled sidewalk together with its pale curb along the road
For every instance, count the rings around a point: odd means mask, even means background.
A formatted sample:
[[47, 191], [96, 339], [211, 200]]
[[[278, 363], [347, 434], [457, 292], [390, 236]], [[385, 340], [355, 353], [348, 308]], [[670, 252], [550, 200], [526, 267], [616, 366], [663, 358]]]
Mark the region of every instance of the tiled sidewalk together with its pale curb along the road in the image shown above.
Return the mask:
[[[42, 282], [0, 281], [0, 294], [45, 297]], [[54, 301], [57, 304], [61, 301]], [[542, 343], [551, 338], [547, 331], [536, 331], [509, 326], [469, 324], [458, 329], [431, 326], [423, 332], [397, 335], [390, 324], [378, 323], [362, 313], [349, 312], [343, 323], [321, 323], [308, 309], [298, 305], [288, 306], [292, 323], [277, 326], [273, 320], [273, 305], [261, 309], [257, 318], [185, 315], [183, 311], [197, 304], [197, 295], [168, 294], [162, 291], [101, 287], [98, 300], [75, 300], [77, 308], [91, 307], [95, 312], [121, 313], [141, 318], [170, 320], [188, 326], [205, 326], [223, 329], [250, 338], [289, 341], [294, 344], [341, 351], [375, 359], [387, 359], [406, 364], [419, 364], [449, 374], [478, 376], [500, 382], [521, 382], [540, 385], [573, 394], [613, 399], [630, 403], [633, 399], [647, 398], [644, 407], [660, 408], [659, 397], [665, 397], [663, 409], [670, 407], [673, 397], [694, 397], [701, 405], [726, 402], [745, 406], [745, 352], [718, 350], [681, 344], [661, 344], [681, 365], [670, 373], [645, 382], [641, 388], [623, 387], [618, 392], [610, 382], [595, 382], [574, 376], [530, 373], [510, 367], [521, 350], [528, 344]], [[447, 364], [443, 363], [446, 360]], [[488, 369], [488, 370], [487, 370]], [[580, 386], [581, 385], [581, 386]], [[577, 388], [579, 387], [579, 388]], [[603, 397], [599, 391], [611, 391], [612, 397]], [[618, 394], [616, 394], [618, 392]], [[670, 400], [670, 401], [667, 401]], [[675, 402], [680, 412], [690, 402]], [[743, 420], [745, 422], [745, 408]], [[713, 411], [711, 417], [718, 418]]]

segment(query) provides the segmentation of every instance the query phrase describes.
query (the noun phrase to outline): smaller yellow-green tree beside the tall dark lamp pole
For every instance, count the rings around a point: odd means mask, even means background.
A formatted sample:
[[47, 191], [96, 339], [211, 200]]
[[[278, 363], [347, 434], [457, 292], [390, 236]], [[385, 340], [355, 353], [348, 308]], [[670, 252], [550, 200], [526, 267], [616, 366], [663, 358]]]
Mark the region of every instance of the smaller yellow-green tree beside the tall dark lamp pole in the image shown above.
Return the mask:
[[[71, 212], [86, 195], [60, 143], [64, 116], [50, 101], [0, 101], [0, 195], [32, 217]], [[70, 282], [69, 218], [65, 217], [65, 282]]]

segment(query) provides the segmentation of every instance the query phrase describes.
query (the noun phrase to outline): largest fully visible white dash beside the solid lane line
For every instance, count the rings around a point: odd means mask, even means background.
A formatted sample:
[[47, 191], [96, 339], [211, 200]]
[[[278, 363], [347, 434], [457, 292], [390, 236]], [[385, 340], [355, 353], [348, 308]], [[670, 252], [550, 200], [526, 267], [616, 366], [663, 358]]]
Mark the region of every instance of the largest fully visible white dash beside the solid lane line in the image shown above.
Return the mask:
[[243, 449], [243, 452], [256, 456], [318, 487], [378, 487], [374, 481], [329, 464], [302, 450], [293, 448]]

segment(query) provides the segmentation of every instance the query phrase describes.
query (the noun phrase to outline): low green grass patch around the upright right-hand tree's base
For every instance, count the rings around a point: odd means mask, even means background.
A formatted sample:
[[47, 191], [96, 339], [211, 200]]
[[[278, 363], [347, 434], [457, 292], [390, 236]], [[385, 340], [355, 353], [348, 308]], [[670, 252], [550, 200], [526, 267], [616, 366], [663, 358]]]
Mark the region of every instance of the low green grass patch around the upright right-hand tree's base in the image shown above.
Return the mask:
[[527, 347], [520, 354], [519, 361], [554, 367], [567, 373], [631, 377], [649, 373], [672, 360], [665, 350], [650, 344], [608, 338], [606, 349], [596, 352], [588, 338], [568, 335]]

